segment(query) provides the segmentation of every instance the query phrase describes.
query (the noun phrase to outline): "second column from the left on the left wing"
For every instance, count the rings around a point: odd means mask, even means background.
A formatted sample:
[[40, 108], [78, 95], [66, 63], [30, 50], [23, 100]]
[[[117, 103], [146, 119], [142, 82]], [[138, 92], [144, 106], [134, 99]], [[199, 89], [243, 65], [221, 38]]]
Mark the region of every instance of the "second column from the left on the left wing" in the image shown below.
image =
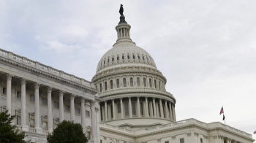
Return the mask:
[[26, 80], [21, 79], [21, 112], [20, 125], [23, 131], [29, 131], [29, 126], [26, 125]]

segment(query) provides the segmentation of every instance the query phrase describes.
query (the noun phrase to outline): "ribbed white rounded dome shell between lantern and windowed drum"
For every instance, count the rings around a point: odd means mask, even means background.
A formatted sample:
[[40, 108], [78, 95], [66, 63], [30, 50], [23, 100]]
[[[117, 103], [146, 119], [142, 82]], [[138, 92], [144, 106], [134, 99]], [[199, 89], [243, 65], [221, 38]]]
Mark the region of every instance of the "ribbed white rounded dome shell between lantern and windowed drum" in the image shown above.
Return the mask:
[[113, 45], [113, 48], [100, 59], [97, 73], [120, 66], [148, 66], [157, 69], [151, 55], [143, 48], [136, 46], [134, 42], [129, 41], [117, 42]]

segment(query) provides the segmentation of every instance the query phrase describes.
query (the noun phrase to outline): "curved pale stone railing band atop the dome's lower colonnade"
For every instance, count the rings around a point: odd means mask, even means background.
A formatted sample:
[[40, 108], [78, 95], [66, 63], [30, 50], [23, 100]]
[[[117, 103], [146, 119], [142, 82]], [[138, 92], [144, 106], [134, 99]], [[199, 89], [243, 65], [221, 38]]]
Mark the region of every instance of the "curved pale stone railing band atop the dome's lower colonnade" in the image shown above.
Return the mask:
[[106, 90], [106, 91], [104, 91], [102, 93], [98, 93], [98, 94], [99, 94], [99, 96], [107, 96], [109, 94], [116, 94], [116, 93], [123, 93], [123, 92], [151, 92], [151, 93], [163, 94], [166, 96], [173, 97], [173, 95], [171, 93], [168, 93], [163, 90], [159, 90], [156, 88], [140, 88], [140, 87], [116, 88], [113, 90]]

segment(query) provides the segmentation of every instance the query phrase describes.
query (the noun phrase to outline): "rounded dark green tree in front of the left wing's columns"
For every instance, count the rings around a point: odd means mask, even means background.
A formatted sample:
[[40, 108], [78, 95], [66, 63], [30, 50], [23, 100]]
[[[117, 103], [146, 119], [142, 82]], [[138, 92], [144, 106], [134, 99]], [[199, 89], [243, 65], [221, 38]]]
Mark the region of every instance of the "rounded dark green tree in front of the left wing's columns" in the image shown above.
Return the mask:
[[83, 134], [83, 127], [80, 123], [74, 123], [67, 120], [62, 121], [48, 134], [49, 143], [86, 143], [88, 142], [86, 134]]

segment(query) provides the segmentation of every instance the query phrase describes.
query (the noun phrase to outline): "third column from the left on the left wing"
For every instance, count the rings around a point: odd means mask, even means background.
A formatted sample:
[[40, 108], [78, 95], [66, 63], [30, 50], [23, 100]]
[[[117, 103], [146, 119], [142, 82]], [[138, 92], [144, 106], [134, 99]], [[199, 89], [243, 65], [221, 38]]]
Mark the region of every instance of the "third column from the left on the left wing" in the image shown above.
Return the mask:
[[34, 82], [34, 128], [38, 134], [42, 134], [40, 128], [40, 112], [39, 112], [39, 83]]

